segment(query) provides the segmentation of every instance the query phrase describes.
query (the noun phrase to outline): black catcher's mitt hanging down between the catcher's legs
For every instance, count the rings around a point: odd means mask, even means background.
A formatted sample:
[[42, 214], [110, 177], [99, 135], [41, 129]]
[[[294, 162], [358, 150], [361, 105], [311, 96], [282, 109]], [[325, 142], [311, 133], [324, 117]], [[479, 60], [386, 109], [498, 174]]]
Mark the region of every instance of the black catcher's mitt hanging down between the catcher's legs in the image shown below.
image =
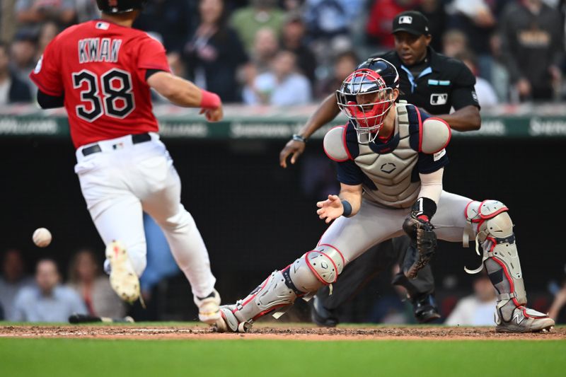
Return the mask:
[[403, 231], [411, 238], [410, 256], [403, 266], [403, 273], [409, 279], [415, 279], [419, 271], [431, 260], [437, 250], [437, 234], [430, 219], [437, 211], [437, 204], [432, 199], [420, 197], [413, 204], [410, 216], [403, 222]]

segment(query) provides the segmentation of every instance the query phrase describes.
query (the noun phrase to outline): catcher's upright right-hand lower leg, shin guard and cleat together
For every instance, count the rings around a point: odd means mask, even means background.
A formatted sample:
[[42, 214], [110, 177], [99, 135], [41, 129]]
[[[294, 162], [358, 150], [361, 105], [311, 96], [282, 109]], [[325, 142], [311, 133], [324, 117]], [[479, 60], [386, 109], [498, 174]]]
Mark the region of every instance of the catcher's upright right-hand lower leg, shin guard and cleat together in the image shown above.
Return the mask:
[[[517, 253], [513, 223], [507, 207], [497, 200], [470, 202], [466, 207], [468, 221], [477, 226], [478, 242], [483, 248], [483, 265], [466, 272], [475, 274], [485, 265], [497, 290], [495, 322], [497, 331], [532, 332], [548, 329], [554, 321], [548, 315], [526, 308], [526, 291]], [[479, 251], [478, 251], [479, 255]]]

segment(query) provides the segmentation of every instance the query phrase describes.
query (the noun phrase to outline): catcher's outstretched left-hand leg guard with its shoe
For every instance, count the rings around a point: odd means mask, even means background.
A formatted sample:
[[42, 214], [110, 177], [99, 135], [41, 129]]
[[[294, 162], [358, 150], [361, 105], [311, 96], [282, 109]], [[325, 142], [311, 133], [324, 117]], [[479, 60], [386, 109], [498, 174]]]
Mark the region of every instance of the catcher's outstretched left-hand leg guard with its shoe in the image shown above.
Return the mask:
[[[254, 320], [335, 282], [343, 267], [344, 258], [338, 250], [329, 245], [318, 246], [281, 271], [272, 272], [235, 305], [221, 306], [222, 318], [216, 327], [220, 332], [246, 332]], [[274, 316], [279, 318], [279, 313]]]

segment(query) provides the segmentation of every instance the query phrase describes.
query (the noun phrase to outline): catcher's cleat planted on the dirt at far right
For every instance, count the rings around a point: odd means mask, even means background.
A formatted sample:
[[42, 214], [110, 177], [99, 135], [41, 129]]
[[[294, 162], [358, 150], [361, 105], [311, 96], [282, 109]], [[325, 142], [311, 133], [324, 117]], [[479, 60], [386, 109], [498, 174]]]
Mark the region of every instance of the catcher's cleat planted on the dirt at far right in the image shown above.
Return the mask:
[[550, 332], [554, 320], [548, 315], [531, 308], [519, 306], [513, 311], [511, 320], [503, 321], [495, 315], [496, 332]]

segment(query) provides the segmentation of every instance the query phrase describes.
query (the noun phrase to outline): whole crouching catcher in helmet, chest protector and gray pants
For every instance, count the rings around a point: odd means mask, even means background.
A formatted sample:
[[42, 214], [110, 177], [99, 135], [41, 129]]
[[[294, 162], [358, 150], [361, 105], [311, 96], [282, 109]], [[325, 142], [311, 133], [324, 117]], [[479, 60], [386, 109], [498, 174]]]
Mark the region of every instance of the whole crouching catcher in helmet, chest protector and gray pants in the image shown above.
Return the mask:
[[337, 102], [350, 121], [324, 139], [325, 153], [337, 162], [340, 195], [317, 203], [320, 219], [335, 221], [316, 248], [273, 272], [243, 300], [221, 306], [219, 331], [244, 332], [279, 310], [277, 317], [297, 297], [308, 298], [336, 282], [345, 265], [372, 245], [403, 233], [415, 250], [406, 277], [416, 277], [427, 265], [437, 237], [458, 242], [470, 236], [478, 253], [481, 245], [482, 268], [497, 289], [496, 330], [536, 332], [554, 325], [548, 315], [525, 307], [507, 207], [442, 189], [450, 127], [405, 101], [395, 103], [398, 95], [398, 72], [383, 59], [368, 59], [345, 79]]

